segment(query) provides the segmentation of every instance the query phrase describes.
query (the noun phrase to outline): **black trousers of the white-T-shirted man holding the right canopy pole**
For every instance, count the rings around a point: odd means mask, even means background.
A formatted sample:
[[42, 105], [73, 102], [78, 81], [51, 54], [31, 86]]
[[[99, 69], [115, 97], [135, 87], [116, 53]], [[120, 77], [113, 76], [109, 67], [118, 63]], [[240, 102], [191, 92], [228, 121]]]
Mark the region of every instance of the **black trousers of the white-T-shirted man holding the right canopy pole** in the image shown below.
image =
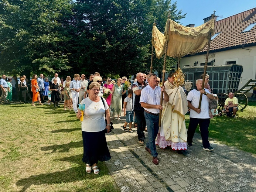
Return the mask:
[[187, 142], [192, 143], [193, 137], [195, 134], [195, 130], [197, 129], [198, 124], [199, 124], [200, 130], [201, 130], [203, 147], [208, 148], [208, 147], [210, 147], [210, 143], [208, 141], [208, 137], [209, 137], [208, 127], [210, 124], [210, 119], [190, 118], [190, 124], [188, 126]]

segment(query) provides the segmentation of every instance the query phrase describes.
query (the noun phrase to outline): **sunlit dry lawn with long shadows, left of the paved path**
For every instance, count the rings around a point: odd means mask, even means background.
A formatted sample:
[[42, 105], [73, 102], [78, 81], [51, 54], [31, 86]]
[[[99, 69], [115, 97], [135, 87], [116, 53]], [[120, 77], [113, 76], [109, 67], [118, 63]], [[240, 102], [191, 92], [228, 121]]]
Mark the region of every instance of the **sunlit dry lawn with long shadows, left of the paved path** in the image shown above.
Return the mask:
[[119, 191], [105, 163], [98, 175], [86, 173], [74, 112], [47, 104], [0, 109], [0, 191]]

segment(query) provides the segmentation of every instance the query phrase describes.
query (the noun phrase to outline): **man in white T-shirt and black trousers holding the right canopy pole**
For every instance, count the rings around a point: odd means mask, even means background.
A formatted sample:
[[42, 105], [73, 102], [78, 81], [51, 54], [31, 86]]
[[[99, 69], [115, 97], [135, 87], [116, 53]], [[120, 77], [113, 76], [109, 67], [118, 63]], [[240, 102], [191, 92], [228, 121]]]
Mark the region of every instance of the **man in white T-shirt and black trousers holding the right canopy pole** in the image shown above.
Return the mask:
[[[188, 93], [188, 107], [190, 108], [190, 124], [188, 126], [188, 147], [192, 147], [192, 141], [195, 134], [195, 130], [199, 124], [201, 130], [201, 137], [203, 143], [203, 149], [206, 151], [212, 151], [208, 137], [208, 127], [210, 124], [209, 116], [209, 99], [214, 99], [214, 96], [208, 91], [208, 89], [202, 89], [202, 79], [197, 79], [195, 82], [197, 88], [191, 90]], [[200, 95], [202, 95], [201, 109], [198, 109]]]

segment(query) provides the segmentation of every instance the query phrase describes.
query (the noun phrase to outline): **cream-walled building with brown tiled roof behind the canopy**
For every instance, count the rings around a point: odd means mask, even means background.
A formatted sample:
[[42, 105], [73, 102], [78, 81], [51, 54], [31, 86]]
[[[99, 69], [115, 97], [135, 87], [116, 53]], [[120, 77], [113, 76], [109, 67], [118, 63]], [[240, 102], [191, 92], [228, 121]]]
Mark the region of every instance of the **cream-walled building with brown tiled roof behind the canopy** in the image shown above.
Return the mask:
[[[248, 79], [256, 79], [255, 25], [256, 8], [215, 22], [215, 35], [211, 38], [208, 65], [242, 65], [243, 72], [238, 89], [242, 88]], [[206, 50], [207, 46], [195, 55], [181, 58], [181, 68], [205, 65]], [[251, 93], [252, 90], [248, 95]]]

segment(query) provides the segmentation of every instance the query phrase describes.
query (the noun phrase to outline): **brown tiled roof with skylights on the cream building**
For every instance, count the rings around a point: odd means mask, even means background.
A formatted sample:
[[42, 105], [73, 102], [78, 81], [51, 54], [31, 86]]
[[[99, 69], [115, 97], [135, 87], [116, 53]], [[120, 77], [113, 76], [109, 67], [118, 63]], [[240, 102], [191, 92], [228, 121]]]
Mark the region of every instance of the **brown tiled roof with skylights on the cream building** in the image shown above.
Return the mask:
[[[243, 44], [256, 43], [256, 26], [248, 32], [242, 32], [250, 24], [256, 23], [256, 8], [216, 21], [215, 34], [221, 32], [211, 41], [210, 51], [232, 48]], [[207, 46], [203, 51], [207, 51]]]

